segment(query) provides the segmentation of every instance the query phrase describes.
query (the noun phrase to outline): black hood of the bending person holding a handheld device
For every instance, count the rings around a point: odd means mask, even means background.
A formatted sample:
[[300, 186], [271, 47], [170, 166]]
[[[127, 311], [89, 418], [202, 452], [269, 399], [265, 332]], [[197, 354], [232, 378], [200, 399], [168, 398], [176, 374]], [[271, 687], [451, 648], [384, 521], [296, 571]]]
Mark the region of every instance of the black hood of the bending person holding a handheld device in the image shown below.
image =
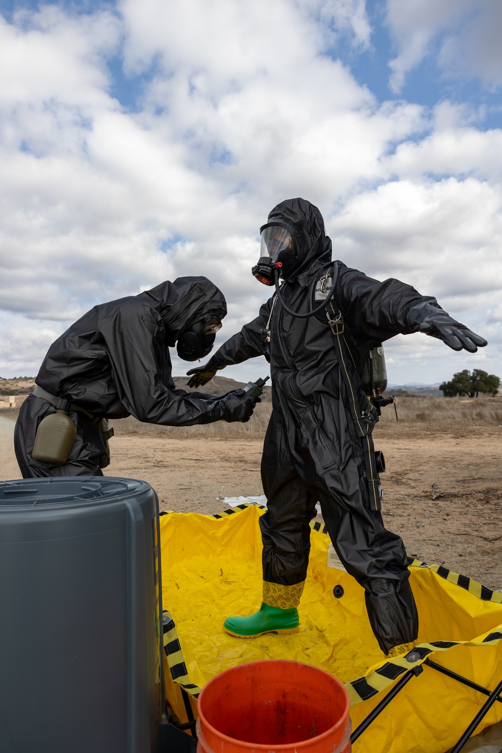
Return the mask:
[[174, 282], [161, 282], [141, 295], [154, 302], [166, 328], [166, 343], [171, 348], [193, 322], [206, 316], [218, 319], [227, 316], [224, 294], [207, 277], [178, 277]]

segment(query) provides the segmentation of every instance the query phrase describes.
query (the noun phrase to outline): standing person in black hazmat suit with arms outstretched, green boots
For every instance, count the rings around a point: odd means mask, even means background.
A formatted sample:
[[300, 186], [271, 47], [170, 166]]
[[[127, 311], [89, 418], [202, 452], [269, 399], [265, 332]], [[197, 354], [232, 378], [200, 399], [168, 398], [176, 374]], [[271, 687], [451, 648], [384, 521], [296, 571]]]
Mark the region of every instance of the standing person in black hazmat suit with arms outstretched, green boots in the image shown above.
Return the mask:
[[380, 648], [397, 655], [417, 638], [418, 614], [403, 541], [382, 523], [371, 437], [378, 416], [361, 373], [370, 349], [398, 333], [426, 332], [470, 352], [486, 341], [403, 282], [333, 265], [321, 213], [303, 199], [278, 204], [260, 232], [253, 273], [266, 284], [275, 274], [275, 295], [205, 366], [188, 372], [189, 385], [199, 386], [218, 369], [262, 353], [271, 364], [272, 416], [261, 462], [268, 500], [260, 517], [263, 605], [250, 617], [228, 617], [224, 627], [243, 638], [297, 631], [309, 522], [320, 501], [339, 559], [366, 590]]

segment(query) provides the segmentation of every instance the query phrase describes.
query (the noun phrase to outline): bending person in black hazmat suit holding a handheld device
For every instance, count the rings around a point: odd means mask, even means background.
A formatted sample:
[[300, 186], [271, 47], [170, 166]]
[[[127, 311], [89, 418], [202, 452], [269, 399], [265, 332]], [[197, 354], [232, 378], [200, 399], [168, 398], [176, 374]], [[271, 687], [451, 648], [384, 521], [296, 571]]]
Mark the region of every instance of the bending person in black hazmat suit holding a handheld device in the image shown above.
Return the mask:
[[[162, 282], [84, 314], [50, 346], [35, 392], [21, 406], [14, 447], [23, 477], [102, 476], [111, 435], [106, 419], [132, 415], [167, 426], [248, 421], [255, 400], [242, 399], [242, 391], [189, 393], [175, 389], [171, 376], [169, 347], [177, 342], [186, 361], [208, 355], [226, 314], [223, 294], [205, 277]], [[69, 401], [77, 427], [68, 459], [36, 460], [38, 425], [59, 401]]]

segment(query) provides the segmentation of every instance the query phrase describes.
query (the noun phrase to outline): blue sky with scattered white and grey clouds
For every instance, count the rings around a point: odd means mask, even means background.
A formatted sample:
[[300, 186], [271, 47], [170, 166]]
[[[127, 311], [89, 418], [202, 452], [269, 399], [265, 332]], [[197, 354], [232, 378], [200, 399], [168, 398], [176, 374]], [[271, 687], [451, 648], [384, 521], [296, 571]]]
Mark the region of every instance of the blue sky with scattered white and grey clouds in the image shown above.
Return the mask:
[[500, 0], [0, 14], [0, 376], [34, 375], [96, 303], [187, 274], [224, 291], [223, 342], [267, 296], [258, 228], [296, 196], [321, 209], [335, 258], [435, 295], [489, 340], [470, 355], [396, 337], [391, 383], [502, 376]]

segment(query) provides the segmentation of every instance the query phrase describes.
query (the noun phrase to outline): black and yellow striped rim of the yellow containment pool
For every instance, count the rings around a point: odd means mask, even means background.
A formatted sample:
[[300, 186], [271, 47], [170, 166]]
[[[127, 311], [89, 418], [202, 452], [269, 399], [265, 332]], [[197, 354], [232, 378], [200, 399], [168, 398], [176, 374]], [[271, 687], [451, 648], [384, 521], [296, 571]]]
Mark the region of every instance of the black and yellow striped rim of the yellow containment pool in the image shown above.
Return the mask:
[[[266, 507], [264, 507], [263, 505], [255, 505], [252, 502], [244, 502], [242, 503], [242, 505], [236, 505], [235, 508], [229, 508], [228, 510], [223, 510], [220, 513], [208, 515], [208, 517], [219, 520], [221, 518], [227, 517], [228, 515], [242, 512], [250, 507], [257, 507], [260, 510], [266, 510]], [[165, 515], [170, 512], [173, 511], [169, 510], [160, 514]], [[323, 523], [319, 523], [318, 521], [311, 521], [310, 527], [314, 531], [318, 531], [327, 535], [327, 527]], [[482, 584], [478, 583], [477, 581], [474, 581], [473, 578], [467, 578], [466, 575], [458, 575], [457, 573], [452, 572], [452, 570], [449, 570], [441, 565], [427, 565], [426, 562], [421, 562], [420, 559], [413, 559], [412, 557], [408, 557], [408, 566], [428, 568], [439, 575], [440, 578], [444, 578], [446, 581], [449, 581], [455, 586], [467, 590], [478, 599], [502, 604], [502, 593], [498, 591], [492, 591], [491, 589], [482, 586]], [[164, 651], [166, 652], [167, 663], [169, 665], [172, 680], [180, 684], [181, 687], [183, 687], [184, 690], [187, 691], [187, 693], [193, 695], [194, 697], [197, 697], [201, 691], [201, 688], [198, 685], [194, 685], [190, 682], [190, 678], [187, 672], [187, 666], [184, 663], [183, 654], [181, 653], [181, 646], [176, 634], [175, 623], [172, 619], [172, 615], [169, 613], [169, 611], [166, 610], [163, 611], [163, 614], [168, 617], [168, 620], [164, 621]], [[356, 703], [366, 701], [376, 694], [380, 693], [381, 691], [385, 690], [385, 688], [392, 684], [395, 680], [397, 680], [400, 675], [403, 675], [405, 672], [408, 672], [409, 669], [413, 669], [415, 666], [423, 663], [424, 660], [427, 659], [429, 654], [438, 651], [448, 651], [450, 648], [461, 645], [496, 645], [500, 640], [502, 640], [502, 625], [497, 626], [496, 630], [488, 633], [485, 638], [482, 639], [482, 641], [434, 641], [432, 643], [418, 644], [417, 646], [412, 648], [412, 651], [409, 651], [407, 654], [403, 654], [400, 657], [388, 660], [378, 669], [370, 672], [369, 675], [364, 675], [364, 677], [360, 677], [357, 678], [357, 680], [352, 680], [351, 682], [346, 683], [345, 689], [348, 692], [351, 706], [354, 706]], [[412, 662], [408, 661], [406, 658], [411, 653], [418, 654], [418, 658], [415, 659], [414, 656], [413, 658], [415, 660]]]

